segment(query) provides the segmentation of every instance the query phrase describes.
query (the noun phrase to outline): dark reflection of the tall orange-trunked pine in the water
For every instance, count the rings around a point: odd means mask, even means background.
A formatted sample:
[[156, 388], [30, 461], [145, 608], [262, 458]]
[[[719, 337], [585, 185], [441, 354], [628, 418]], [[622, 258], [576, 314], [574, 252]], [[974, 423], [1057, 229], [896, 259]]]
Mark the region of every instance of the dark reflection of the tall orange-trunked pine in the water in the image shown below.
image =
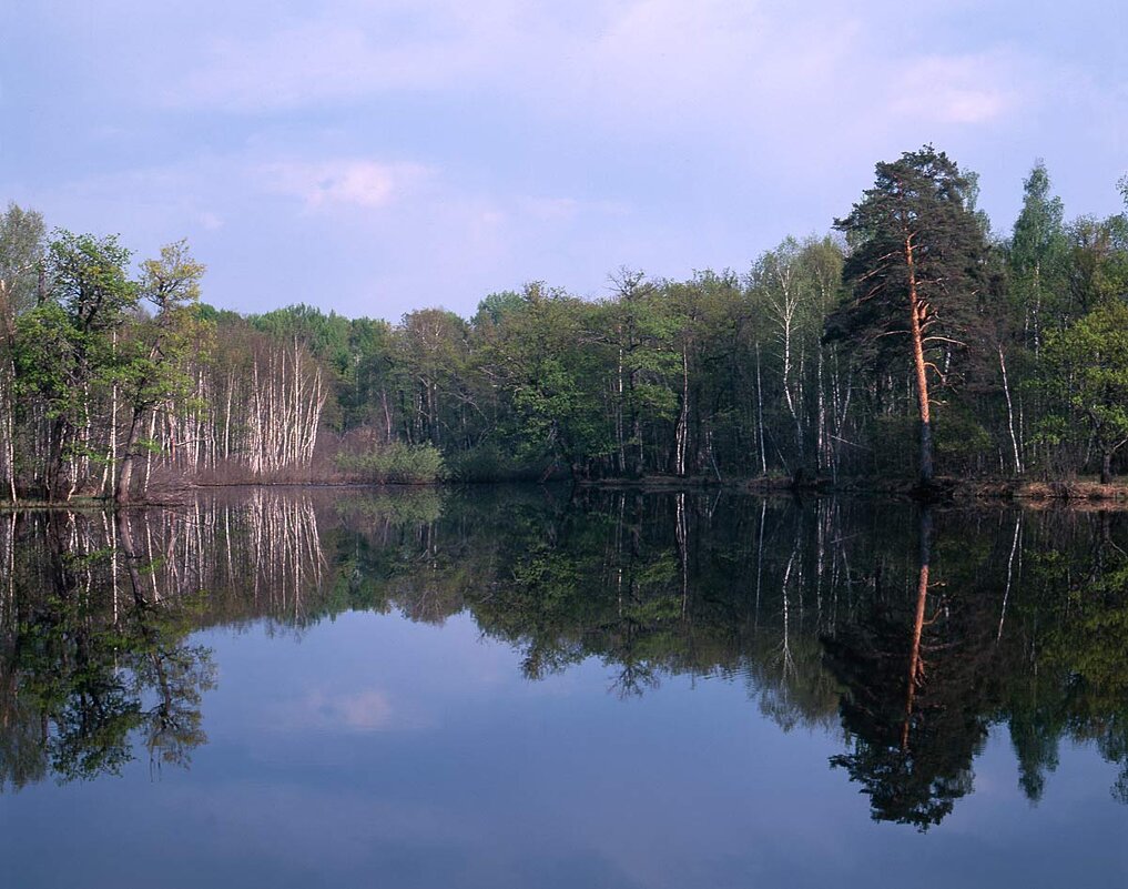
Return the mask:
[[971, 791], [971, 760], [987, 737], [973, 610], [960, 591], [931, 582], [933, 520], [919, 517], [914, 595], [875, 576], [858, 619], [825, 640], [843, 684], [840, 712], [851, 749], [831, 759], [870, 796], [875, 820], [926, 829]]

